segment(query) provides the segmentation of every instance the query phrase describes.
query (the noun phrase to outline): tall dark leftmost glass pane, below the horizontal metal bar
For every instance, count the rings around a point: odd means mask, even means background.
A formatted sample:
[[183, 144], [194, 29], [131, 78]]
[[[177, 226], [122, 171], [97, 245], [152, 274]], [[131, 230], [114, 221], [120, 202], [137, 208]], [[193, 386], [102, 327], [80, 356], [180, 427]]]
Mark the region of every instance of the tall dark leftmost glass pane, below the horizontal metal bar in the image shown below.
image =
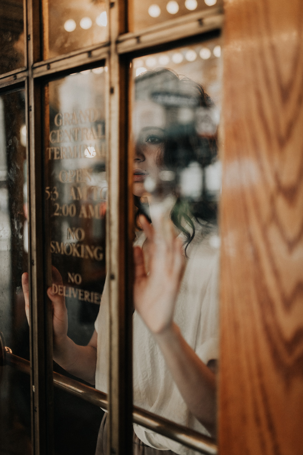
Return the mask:
[[[21, 275], [27, 270], [24, 90], [0, 96], [0, 332], [29, 360]], [[0, 380], [0, 454], [31, 454], [30, 376], [9, 365]]]

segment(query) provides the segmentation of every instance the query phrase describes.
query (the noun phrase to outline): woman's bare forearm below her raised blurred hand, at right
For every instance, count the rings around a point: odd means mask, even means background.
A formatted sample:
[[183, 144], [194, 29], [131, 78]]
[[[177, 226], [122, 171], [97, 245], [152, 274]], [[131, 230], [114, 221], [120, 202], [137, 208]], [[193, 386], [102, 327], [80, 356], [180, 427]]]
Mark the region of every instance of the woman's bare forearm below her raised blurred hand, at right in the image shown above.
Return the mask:
[[176, 324], [154, 334], [166, 364], [191, 413], [216, 432], [216, 376], [187, 344]]

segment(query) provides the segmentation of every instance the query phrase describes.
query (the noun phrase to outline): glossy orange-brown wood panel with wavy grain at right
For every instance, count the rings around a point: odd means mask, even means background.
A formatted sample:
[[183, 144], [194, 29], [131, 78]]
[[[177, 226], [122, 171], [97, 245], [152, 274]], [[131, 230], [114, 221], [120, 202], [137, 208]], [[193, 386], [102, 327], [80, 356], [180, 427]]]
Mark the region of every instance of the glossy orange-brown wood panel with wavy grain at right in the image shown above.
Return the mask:
[[219, 449], [303, 454], [303, 4], [227, 0]]

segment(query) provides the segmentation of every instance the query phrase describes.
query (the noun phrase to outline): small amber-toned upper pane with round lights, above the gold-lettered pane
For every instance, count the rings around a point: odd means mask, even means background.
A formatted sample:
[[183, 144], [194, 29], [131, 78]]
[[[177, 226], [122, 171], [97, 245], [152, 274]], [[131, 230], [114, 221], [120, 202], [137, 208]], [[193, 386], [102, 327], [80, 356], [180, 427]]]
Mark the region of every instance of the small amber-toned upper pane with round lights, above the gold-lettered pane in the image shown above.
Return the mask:
[[108, 40], [104, 0], [45, 1], [44, 21], [44, 58]]

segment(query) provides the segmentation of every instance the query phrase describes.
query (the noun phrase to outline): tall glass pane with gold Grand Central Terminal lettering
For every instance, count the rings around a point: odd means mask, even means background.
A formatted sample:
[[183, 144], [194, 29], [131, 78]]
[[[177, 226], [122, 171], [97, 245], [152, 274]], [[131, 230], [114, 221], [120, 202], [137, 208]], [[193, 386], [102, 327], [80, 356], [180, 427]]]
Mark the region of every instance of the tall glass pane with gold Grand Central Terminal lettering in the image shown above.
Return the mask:
[[[94, 332], [106, 273], [106, 71], [106, 67], [82, 71], [45, 87], [45, 232], [53, 266], [50, 297], [62, 308], [66, 304], [68, 340], [78, 347], [87, 345]], [[54, 309], [54, 359], [58, 363], [54, 369], [94, 384], [95, 363], [89, 374], [86, 354], [83, 365], [73, 351], [67, 361], [60, 357], [67, 328], [58, 325], [56, 318]], [[58, 318], [62, 319], [60, 308]], [[102, 416], [98, 407], [55, 389], [55, 453], [94, 454]]]

